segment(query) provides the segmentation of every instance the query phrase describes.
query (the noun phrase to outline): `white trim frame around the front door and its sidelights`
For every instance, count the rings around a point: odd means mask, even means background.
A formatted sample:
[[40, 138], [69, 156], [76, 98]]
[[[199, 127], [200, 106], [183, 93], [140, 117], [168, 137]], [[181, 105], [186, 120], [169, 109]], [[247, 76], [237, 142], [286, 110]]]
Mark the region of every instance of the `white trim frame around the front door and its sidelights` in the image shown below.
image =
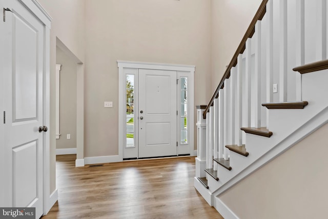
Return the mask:
[[194, 155], [194, 73], [195, 66], [191, 65], [176, 65], [176, 64], [161, 64], [161, 63], [143, 63], [130, 61], [117, 61], [118, 67], [118, 160], [123, 161], [123, 151], [126, 145], [126, 78], [125, 69], [154, 69], [154, 70], [171, 70], [177, 71], [177, 75], [188, 75], [189, 85], [189, 151], [190, 155]]

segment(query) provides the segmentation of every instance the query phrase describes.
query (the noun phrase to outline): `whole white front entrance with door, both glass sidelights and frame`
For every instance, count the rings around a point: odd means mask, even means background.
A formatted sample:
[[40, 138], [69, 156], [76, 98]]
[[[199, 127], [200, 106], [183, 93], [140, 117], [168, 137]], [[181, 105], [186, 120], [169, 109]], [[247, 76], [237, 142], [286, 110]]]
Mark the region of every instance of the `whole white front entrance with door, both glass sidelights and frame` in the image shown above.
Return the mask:
[[118, 61], [121, 160], [194, 155], [195, 66]]

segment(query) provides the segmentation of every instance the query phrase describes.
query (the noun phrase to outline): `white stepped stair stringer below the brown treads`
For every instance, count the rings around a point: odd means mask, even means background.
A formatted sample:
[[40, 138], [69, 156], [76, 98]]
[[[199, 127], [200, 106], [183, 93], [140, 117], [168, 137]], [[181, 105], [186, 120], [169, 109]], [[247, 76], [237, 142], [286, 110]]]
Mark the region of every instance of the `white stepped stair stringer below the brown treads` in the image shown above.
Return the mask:
[[[243, 178], [269, 163], [301, 140], [328, 122], [328, 70], [303, 74], [302, 95], [309, 105], [304, 109], [272, 109], [270, 110], [270, 131], [268, 137], [246, 134], [246, 148], [249, 156], [235, 152], [230, 153], [232, 170], [218, 165], [219, 181], [213, 179], [212, 187], [217, 190], [208, 191], [218, 196], [240, 182]], [[211, 177], [211, 176], [209, 176]], [[218, 197], [212, 198], [211, 206], [216, 207]], [[219, 204], [222, 208], [222, 203]], [[220, 211], [220, 213], [222, 213]], [[224, 215], [222, 215], [224, 217]], [[230, 217], [228, 217], [230, 218]]]

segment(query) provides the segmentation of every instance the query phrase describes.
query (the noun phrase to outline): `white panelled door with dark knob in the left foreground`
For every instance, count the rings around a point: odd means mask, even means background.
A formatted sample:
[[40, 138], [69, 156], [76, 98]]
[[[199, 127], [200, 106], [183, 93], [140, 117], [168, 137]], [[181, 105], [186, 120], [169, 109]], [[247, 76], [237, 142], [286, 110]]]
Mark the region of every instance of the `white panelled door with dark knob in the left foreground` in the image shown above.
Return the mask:
[[4, 22], [5, 205], [43, 214], [44, 25], [18, 1], [8, 1]]

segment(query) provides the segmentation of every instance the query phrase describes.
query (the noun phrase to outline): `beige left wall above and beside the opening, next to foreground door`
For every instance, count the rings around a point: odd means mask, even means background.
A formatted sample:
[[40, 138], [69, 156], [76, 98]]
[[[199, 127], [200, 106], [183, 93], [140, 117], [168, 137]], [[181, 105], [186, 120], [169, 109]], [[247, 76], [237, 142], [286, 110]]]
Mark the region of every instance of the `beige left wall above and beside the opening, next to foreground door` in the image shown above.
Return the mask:
[[50, 30], [50, 193], [56, 188], [55, 72], [56, 37], [84, 61], [84, 4], [81, 0], [38, 0], [52, 16]]

